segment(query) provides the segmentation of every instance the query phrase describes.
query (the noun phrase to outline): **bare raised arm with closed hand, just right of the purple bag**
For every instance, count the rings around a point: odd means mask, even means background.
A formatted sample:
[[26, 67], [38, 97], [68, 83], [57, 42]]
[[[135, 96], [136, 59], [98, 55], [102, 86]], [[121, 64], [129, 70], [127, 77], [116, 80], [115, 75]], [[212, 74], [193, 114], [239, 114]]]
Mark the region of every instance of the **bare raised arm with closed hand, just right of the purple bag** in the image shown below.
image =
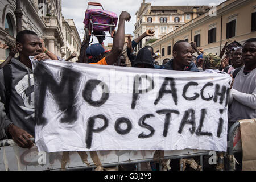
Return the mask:
[[113, 41], [113, 47], [110, 53], [106, 56], [106, 63], [108, 65], [113, 65], [117, 59], [118, 56], [123, 51], [123, 46], [125, 44], [125, 21], [130, 21], [131, 16], [126, 11], [122, 11], [120, 17], [119, 17], [119, 24], [118, 24], [118, 30], [117, 34], [115, 34], [114, 41]]

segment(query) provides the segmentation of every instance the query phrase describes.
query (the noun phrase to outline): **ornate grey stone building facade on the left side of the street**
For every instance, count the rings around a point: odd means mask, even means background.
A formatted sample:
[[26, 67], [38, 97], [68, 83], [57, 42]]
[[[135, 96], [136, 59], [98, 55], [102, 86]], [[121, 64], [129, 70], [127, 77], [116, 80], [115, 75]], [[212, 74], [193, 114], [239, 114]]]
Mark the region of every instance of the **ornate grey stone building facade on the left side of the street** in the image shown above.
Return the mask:
[[[15, 46], [15, 38], [17, 35], [15, 9], [15, 0], [0, 1], [0, 41], [7, 44], [9, 47]], [[65, 48], [63, 49], [63, 47], [65, 47], [65, 39], [62, 31], [63, 16], [61, 0], [21, 1], [21, 10], [23, 13], [22, 30], [32, 30], [36, 32], [40, 38], [44, 39], [45, 46], [49, 51], [60, 57], [65, 57]], [[75, 24], [71, 25], [72, 30], [74, 30], [73, 26], [75, 26]], [[78, 39], [80, 38], [79, 35], [76, 35], [76, 32], [72, 32], [72, 35], [77, 36], [78, 44]], [[10, 49], [0, 49], [0, 60], [5, 60], [9, 52]]]

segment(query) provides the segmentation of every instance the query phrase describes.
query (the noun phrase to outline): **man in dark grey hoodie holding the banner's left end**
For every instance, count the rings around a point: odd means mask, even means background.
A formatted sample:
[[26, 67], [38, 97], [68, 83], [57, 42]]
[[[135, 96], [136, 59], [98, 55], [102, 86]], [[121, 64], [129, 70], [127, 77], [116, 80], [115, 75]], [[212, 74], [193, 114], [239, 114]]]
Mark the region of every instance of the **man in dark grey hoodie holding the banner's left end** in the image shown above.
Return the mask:
[[38, 35], [29, 30], [16, 36], [19, 57], [0, 69], [0, 139], [12, 138], [20, 147], [31, 148], [34, 135], [34, 77], [29, 56], [49, 59], [42, 52]]

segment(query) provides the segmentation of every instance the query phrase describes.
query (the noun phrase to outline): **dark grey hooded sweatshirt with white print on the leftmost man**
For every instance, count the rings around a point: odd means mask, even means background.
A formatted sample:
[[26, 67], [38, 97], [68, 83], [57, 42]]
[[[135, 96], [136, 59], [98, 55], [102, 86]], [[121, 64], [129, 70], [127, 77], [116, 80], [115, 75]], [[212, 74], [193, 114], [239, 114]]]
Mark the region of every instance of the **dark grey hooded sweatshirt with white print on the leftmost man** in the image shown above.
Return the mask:
[[2, 90], [0, 103], [0, 119], [3, 123], [5, 133], [7, 127], [14, 125], [27, 131], [29, 134], [35, 133], [35, 109], [34, 109], [34, 76], [30, 68], [26, 67], [19, 60], [11, 60], [11, 96], [9, 103], [9, 114], [6, 117], [3, 111], [3, 102], [5, 102], [5, 84], [3, 79], [3, 70], [0, 70], [0, 87]]

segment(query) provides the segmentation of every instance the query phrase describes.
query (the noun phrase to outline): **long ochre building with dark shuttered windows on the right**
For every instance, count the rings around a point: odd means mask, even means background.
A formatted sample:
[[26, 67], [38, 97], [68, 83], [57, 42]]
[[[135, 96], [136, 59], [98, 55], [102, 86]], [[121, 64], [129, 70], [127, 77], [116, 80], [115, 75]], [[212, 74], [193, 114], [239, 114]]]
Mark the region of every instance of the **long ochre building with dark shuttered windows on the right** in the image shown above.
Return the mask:
[[172, 48], [178, 40], [187, 39], [205, 52], [220, 55], [225, 43], [256, 37], [256, 4], [254, 0], [228, 0], [203, 15], [183, 24], [150, 45], [161, 53], [157, 59], [172, 59]]

